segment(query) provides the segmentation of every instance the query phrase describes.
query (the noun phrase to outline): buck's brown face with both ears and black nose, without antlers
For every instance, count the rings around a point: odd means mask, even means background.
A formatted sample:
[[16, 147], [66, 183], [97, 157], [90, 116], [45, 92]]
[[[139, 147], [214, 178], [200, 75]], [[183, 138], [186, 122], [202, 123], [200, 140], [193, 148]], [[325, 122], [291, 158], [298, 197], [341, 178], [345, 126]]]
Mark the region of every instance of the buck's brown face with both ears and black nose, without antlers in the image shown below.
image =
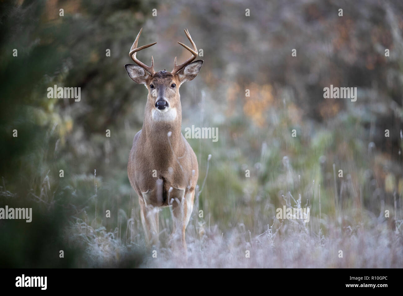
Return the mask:
[[[140, 66], [133, 64], [125, 65], [127, 74], [136, 83], [144, 84], [148, 89], [147, 106], [152, 106], [152, 114], [165, 113], [181, 110], [179, 87], [185, 81], [193, 80], [200, 71], [203, 61], [198, 60], [183, 67], [179, 72], [172, 75], [166, 70], [151, 75]], [[172, 114], [173, 115], [173, 114]]]

